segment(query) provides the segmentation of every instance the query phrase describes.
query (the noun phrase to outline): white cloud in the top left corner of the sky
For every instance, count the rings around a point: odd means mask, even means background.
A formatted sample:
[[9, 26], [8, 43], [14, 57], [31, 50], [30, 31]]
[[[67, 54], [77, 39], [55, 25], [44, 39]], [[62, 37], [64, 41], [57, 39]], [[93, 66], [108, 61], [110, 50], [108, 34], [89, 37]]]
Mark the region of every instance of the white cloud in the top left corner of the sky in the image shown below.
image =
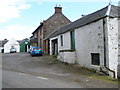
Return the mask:
[[0, 0], [0, 23], [20, 17], [21, 10], [30, 7], [25, 0]]

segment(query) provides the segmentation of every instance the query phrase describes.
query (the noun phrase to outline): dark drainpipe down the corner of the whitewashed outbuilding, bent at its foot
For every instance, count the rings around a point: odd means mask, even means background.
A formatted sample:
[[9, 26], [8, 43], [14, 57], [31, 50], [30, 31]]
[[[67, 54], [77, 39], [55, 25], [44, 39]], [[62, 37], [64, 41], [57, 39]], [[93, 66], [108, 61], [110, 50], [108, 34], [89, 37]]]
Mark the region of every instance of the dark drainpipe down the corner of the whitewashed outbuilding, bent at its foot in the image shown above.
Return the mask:
[[[115, 78], [115, 71], [110, 70], [106, 65], [106, 32], [105, 32], [105, 19], [103, 19], [103, 40], [104, 40], [104, 68], [109, 72], [113, 73], [113, 78]], [[106, 73], [106, 72], [104, 72]]]

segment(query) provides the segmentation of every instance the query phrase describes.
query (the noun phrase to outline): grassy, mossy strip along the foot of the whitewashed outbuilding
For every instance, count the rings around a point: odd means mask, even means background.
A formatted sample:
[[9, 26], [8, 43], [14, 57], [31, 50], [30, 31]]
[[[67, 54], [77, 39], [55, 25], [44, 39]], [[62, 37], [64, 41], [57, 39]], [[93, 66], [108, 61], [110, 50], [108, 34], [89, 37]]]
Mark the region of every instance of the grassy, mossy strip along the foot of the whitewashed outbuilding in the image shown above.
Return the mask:
[[65, 70], [65, 72], [71, 72], [74, 73], [76, 75], [83, 75], [86, 76], [90, 79], [97, 79], [97, 80], [103, 80], [103, 81], [107, 81], [107, 82], [112, 82], [117, 84], [118, 80], [115, 78], [112, 78], [110, 76], [107, 75], [100, 75], [98, 72], [96, 72], [93, 69], [88, 69], [85, 67], [81, 67], [78, 64], [65, 64], [62, 63], [61, 61], [59, 61], [56, 56], [47, 56], [51, 59], [51, 64], [56, 64], [58, 67], [62, 68], [63, 70]]

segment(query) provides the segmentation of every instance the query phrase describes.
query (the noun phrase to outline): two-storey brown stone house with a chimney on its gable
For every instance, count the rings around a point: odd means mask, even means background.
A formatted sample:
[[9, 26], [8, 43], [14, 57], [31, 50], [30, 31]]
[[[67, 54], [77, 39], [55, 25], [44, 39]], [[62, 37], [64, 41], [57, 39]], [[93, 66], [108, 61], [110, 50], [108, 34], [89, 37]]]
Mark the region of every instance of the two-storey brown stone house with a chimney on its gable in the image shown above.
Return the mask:
[[30, 38], [31, 45], [41, 47], [44, 54], [49, 54], [49, 40], [44, 39], [57, 28], [71, 23], [71, 21], [62, 13], [62, 7], [56, 6], [54, 9], [54, 14], [47, 20], [41, 22]]

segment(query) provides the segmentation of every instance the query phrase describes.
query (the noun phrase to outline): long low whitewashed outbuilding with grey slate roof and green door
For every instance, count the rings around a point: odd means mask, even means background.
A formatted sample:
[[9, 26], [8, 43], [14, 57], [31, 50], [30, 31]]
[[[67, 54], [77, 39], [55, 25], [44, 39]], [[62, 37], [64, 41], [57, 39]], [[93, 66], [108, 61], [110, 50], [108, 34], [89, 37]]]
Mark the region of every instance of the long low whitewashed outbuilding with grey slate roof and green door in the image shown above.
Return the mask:
[[50, 55], [117, 78], [120, 63], [119, 12], [120, 7], [108, 5], [58, 28], [47, 37]]

